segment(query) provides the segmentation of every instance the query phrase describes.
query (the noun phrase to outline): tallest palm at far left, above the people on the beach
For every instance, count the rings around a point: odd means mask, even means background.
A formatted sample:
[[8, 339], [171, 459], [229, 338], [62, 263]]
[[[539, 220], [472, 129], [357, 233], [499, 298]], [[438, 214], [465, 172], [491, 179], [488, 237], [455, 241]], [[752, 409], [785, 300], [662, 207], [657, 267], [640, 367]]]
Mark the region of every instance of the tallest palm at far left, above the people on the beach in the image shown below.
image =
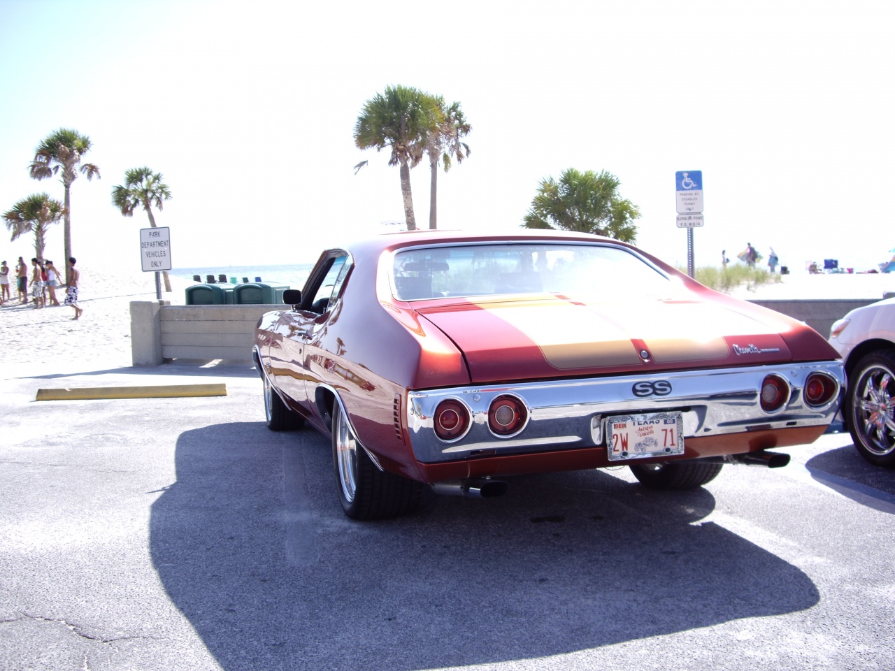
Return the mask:
[[[78, 172], [87, 175], [87, 179], [92, 180], [96, 175], [99, 178], [99, 168], [92, 163], [81, 165], [81, 159], [90, 151], [90, 138], [81, 135], [77, 131], [70, 128], [60, 128], [58, 131], [51, 132], [38, 145], [38, 149], [34, 152], [34, 160], [29, 166], [30, 174], [33, 179], [43, 180], [62, 169], [62, 183], [65, 187], [65, 225], [64, 249], [65, 259], [72, 257], [72, 218], [71, 218], [71, 200], [69, 191], [72, 188], [72, 182], [78, 177]], [[68, 284], [68, 263], [65, 264], [65, 284]]]

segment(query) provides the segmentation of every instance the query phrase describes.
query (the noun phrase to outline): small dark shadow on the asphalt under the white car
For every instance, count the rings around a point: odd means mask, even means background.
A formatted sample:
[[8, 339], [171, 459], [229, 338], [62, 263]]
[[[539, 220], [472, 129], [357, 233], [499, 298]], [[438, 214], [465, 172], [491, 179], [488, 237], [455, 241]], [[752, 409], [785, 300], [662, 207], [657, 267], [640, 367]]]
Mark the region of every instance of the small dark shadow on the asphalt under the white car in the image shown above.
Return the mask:
[[817, 454], [805, 463], [811, 477], [842, 496], [895, 514], [895, 470], [874, 466], [853, 445]]

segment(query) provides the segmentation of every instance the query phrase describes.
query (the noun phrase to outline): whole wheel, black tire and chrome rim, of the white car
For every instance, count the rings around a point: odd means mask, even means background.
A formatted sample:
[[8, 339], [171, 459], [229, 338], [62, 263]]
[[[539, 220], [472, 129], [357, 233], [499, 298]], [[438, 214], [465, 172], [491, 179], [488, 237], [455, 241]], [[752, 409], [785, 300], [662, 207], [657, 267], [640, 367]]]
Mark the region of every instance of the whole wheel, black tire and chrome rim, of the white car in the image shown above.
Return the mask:
[[842, 415], [857, 451], [876, 466], [895, 467], [895, 352], [865, 354], [848, 376]]

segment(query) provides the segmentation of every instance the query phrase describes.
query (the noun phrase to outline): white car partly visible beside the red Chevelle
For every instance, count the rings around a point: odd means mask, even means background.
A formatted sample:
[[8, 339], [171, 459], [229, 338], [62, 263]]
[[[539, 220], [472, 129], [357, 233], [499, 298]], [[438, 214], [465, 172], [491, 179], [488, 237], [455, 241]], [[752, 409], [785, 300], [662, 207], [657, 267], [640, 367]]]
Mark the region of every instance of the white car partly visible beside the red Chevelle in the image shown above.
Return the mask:
[[845, 364], [842, 420], [857, 451], [895, 467], [895, 298], [851, 310], [833, 324], [830, 344]]

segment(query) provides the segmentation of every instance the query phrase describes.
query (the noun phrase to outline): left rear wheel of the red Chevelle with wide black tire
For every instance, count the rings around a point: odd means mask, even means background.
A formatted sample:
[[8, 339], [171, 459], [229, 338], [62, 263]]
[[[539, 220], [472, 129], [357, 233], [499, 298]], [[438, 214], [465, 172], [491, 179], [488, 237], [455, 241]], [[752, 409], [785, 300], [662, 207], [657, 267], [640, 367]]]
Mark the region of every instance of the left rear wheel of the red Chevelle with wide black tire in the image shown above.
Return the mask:
[[423, 485], [379, 471], [357, 442], [338, 403], [333, 408], [333, 470], [339, 503], [353, 520], [381, 520], [413, 513]]

